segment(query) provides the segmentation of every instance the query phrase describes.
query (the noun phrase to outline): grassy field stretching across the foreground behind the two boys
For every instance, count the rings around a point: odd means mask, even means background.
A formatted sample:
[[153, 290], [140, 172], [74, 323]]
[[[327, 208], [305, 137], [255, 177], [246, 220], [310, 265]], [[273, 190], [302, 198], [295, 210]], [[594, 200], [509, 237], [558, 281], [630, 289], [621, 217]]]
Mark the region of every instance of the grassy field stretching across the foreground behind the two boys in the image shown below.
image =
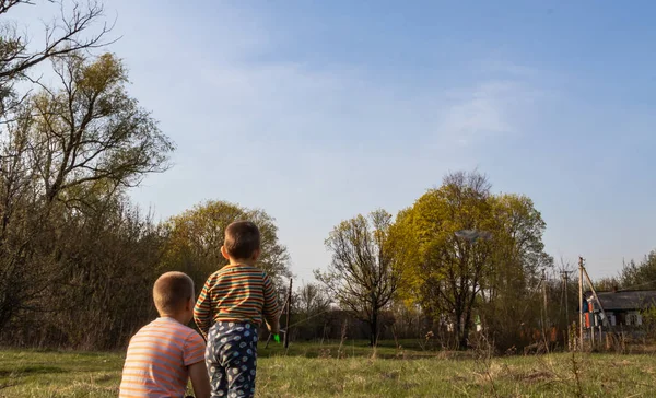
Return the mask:
[[[475, 359], [364, 343], [259, 349], [258, 397], [653, 397], [656, 356]], [[339, 356], [338, 358], [338, 352]], [[121, 353], [0, 351], [0, 397], [116, 397]], [[578, 375], [578, 376], [576, 376]]]

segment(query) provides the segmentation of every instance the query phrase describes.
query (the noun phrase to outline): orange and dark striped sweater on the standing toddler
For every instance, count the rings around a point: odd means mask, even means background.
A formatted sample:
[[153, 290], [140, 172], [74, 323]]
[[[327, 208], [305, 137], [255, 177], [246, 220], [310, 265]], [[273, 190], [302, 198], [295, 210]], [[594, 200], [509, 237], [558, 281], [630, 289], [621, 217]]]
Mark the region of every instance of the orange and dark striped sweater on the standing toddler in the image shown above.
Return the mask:
[[278, 298], [267, 272], [246, 265], [227, 265], [208, 278], [194, 307], [194, 320], [207, 338], [215, 321], [260, 326], [278, 324]]

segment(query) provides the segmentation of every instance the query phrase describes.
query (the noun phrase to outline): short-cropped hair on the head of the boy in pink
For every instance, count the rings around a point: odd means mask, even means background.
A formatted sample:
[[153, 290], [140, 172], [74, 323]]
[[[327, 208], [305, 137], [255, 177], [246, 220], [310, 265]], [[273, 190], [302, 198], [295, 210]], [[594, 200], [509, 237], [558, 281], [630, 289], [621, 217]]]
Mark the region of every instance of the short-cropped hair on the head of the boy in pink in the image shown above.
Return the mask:
[[191, 297], [194, 281], [184, 272], [166, 272], [153, 286], [153, 300], [160, 315], [179, 311]]

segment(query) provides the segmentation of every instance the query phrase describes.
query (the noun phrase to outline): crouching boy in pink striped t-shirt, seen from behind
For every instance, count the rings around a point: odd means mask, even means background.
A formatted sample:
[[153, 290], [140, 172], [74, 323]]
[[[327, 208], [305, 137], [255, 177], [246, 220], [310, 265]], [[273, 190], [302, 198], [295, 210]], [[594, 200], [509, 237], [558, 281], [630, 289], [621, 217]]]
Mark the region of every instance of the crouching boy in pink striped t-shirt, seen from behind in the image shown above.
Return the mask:
[[119, 397], [181, 398], [191, 378], [196, 397], [209, 398], [206, 344], [186, 326], [194, 314], [194, 281], [183, 272], [164, 273], [153, 298], [160, 317], [130, 340]]

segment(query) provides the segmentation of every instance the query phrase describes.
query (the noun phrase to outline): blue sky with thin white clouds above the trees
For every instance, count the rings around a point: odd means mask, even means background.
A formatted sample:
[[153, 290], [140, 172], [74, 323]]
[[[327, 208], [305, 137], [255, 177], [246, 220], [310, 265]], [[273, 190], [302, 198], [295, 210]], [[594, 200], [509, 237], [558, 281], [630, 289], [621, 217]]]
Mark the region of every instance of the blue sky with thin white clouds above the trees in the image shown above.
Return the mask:
[[656, 4], [114, 0], [106, 10], [118, 16], [112, 50], [131, 93], [178, 147], [175, 167], [132, 192], [159, 218], [207, 199], [262, 208], [309, 281], [341, 220], [396, 213], [448, 171], [478, 167], [495, 191], [531, 197], [547, 250], [583, 255], [593, 278], [656, 248]]

